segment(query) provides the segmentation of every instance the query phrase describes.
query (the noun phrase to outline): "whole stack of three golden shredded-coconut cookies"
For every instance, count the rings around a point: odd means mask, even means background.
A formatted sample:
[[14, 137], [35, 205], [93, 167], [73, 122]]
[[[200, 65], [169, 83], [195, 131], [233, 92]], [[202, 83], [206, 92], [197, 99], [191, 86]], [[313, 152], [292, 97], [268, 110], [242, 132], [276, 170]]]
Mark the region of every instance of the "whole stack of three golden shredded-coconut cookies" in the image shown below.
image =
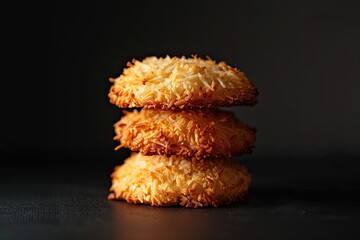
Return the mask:
[[112, 173], [109, 199], [152, 206], [220, 206], [243, 199], [250, 173], [233, 157], [251, 153], [255, 129], [216, 107], [256, 103], [239, 70], [193, 56], [127, 64], [108, 94], [124, 111], [116, 148], [133, 153]]

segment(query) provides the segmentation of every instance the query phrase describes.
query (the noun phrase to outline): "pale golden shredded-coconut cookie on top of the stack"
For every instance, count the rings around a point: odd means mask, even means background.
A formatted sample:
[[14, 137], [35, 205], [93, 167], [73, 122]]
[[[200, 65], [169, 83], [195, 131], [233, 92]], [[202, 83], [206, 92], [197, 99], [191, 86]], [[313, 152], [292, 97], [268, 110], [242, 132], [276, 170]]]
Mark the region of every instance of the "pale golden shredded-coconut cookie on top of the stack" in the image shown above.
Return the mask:
[[201, 58], [133, 60], [110, 78], [110, 102], [120, 108], [178, 109], [254, 105], [258, 91], [243, 72]]

